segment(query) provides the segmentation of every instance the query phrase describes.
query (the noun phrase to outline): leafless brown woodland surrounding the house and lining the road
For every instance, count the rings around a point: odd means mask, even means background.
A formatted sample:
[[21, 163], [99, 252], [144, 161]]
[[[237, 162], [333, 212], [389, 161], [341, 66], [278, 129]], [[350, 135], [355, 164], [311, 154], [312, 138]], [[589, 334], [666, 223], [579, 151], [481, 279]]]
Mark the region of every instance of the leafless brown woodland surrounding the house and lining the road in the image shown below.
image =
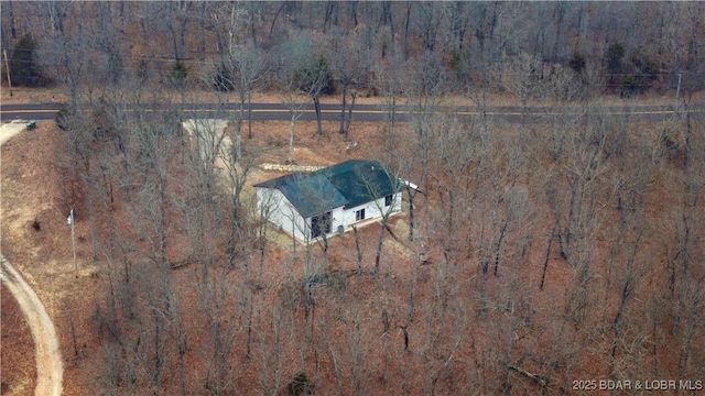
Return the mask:
[[[12, 86], [65, 105], [51, 200], [95, 268], [54, 318], [65, 394], [702, 391], [705, 3], [0, 7]], [[252, 120], [263, 97], [288, 121]], [[322, 101], [339, 121], [301, 119]], [[206, 103], [237, 105], [226, 155], [182, 128]], [[250, 190], [294, 146], [419, 189], [355, 234], [279, 243]]]

